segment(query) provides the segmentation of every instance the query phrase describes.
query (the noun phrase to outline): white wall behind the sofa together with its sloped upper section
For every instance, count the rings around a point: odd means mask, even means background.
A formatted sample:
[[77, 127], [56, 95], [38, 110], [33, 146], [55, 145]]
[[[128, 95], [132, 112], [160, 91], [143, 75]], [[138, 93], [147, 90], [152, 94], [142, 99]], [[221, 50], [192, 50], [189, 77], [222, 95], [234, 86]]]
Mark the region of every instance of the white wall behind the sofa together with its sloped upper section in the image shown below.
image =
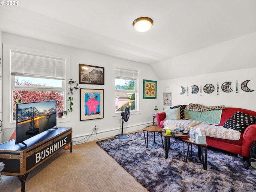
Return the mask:
[[[169, 108], [163, 105], [162, 96], [168, 86], [172, 92], [173, 106], [199, 103], [206, 106], [225, 105], [256, 111], [255, 50], [256, 33], [253, 33], [158, 63], [158, 72], [162, 71], [164, 76], [160, 77], [158, 83], [160, 109]], [[250, 80], [248, 87], [254, 90], [253, 92], [241, 90], [241, 83], [245, 80]], [[236, 93], [236, 81], [238, 81], [238, 93]], [[222, 91], [221, 86], [224, 82], [232, 82], [232, 92]], [[206, 84], [213, 84], [214, 92], [206, 94], [202, 90], [202, 96], [200, 91], [198, 94], [192, 94], [191, 86], [197, 85], [200, 88], [201, 84], [202, 88]], [[218, 95], [217, 84], [219, 84]], [[182, 92], [180, 86], [186, 88], [186, 93], [183, 95], [180, 95]]]

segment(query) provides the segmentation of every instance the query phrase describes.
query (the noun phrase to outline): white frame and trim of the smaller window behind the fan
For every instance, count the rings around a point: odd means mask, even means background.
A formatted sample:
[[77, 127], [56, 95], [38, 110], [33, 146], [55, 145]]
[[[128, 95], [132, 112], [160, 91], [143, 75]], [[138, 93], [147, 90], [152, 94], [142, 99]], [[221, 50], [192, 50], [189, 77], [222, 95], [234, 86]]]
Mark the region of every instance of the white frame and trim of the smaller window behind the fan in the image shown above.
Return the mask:
[[[124, 69], [124, 70], [134, 70], [134, 71], [138, 71], [138, 80], [135, 80], [135, 101], [136, 101], [136, 110], [130, 110], [130, 114], [140, 114], [141, 110], [140, 110], [140, 103], [141, 103], [141, 98], [140, 98], [140, 90], [142, 90], [141, 85], [140, 85], [140, 72], [141, 69], [140, 68], [133, 68], [133, 67], [127, 67], [127, 66], [122, 66], [122, 65], [117, 65], [117, 64], [113, 64], [112, 66], [112, 70], [113, 70], [113, 78], [112, 78], [112, 82], [113, 82], [113, 110], [112, 110], [112, 116], [120, 116], [122, 111], [117, 111], [116, 112], [116, 92], [131, 92], [131, 90], [116, 90], [116, 68], [120, 68], [120, 69]], [[133, 90], [132, 90], [133, 91]]]

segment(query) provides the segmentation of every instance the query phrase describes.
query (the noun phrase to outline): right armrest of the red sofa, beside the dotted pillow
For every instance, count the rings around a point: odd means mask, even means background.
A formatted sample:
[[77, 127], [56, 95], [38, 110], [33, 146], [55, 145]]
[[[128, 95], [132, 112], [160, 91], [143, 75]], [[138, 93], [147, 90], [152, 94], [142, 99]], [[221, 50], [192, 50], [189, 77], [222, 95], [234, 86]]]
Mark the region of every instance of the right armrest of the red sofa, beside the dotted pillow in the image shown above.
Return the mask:
[[248, 126], [244, 131], [242, 141], [242, 156], [249, 157], [250, 148], [254, 141], [256, 141], [256, 124]]

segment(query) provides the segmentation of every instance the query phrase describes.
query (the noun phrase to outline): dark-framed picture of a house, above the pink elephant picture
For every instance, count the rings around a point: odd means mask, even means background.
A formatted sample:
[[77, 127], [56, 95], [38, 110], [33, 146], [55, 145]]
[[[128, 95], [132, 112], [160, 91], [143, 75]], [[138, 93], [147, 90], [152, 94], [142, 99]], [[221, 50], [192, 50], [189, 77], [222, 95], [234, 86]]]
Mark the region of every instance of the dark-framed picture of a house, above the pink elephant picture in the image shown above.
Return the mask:
[[104, 85], [104, 67], [79, 64], [79, 83]]

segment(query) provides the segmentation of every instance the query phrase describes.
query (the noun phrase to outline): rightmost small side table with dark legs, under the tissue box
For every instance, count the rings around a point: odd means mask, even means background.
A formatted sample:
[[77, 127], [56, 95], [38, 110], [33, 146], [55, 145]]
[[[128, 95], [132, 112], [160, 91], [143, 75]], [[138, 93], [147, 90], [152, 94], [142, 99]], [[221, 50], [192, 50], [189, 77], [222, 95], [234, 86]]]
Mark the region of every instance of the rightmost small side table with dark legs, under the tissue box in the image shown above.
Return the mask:
[[[197, 148], [198, 148], [198, 159], [200, 161], [202, 160], [204, 170], [207, 171], [207, 146], [208, 146], [207, 142], [206, 142], [206, 144], [197, 144], [196, 142], [191, 142], [188, 138], [182, 139], [182, 141], [183, 141], [183, 155], [184, 155], [184, 158], [185, 158], [184, 144], [185, 144], [185, 142], [188, 144], [186, 162], [188, 160], [189, 146], [191, 144], [191, 156], [192, 156], [192, 144], [195, 144], [195, 145], [197, 145]], [[204, 148], [204, 152], [203, 152], [203, 148]]]

